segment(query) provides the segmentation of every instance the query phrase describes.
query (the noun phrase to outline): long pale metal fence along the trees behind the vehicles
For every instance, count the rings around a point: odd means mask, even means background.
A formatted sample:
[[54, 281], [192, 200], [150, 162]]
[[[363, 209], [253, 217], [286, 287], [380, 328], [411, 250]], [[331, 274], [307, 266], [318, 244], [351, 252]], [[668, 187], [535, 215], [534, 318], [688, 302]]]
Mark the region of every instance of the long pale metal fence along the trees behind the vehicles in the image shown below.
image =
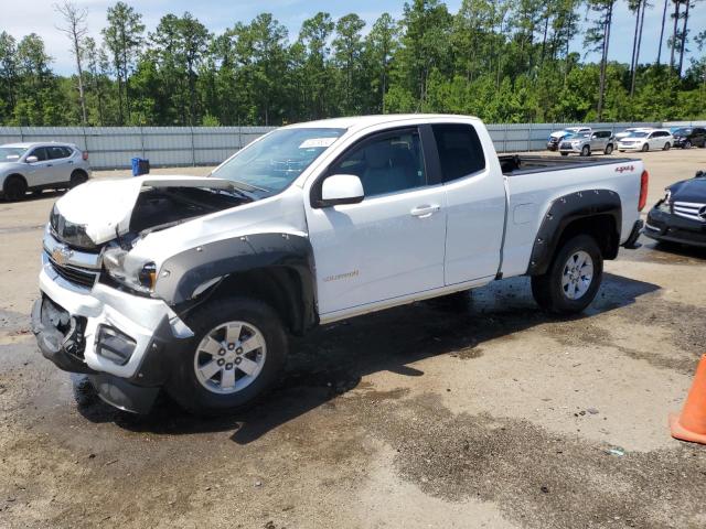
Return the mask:
[[[619, 132], [627, 127], [674, 123], [507, 123], [489, 125], [498, 152], [539, 151], [549, 134], [565, 127], [588, 126]], [[694, 123], [696, 125], [696, 123]], [[146, 158], [152, 166], [215, 165], [272, 127], [0, 127], [0, 144], [19, 141], [75, 143], [90, 154], [94, 169], [129, 168]]]

